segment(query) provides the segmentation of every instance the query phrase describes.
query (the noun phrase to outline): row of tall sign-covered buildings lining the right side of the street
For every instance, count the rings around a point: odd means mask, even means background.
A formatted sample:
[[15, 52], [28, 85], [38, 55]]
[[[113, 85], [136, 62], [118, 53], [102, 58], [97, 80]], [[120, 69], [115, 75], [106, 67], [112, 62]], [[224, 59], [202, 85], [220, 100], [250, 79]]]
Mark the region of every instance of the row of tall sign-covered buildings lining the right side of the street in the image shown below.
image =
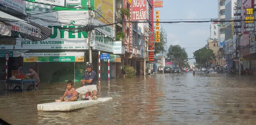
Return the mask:
[[[219, 18], [225, 12], [225, 23], [219, 22], [222, 25], [218, 40], [222, 65], [239, 71], [248, 68], [255, 75], [255, 1], [219, 0], [218, 3]], [[224, 40], [221, 34], [224, 34]]]

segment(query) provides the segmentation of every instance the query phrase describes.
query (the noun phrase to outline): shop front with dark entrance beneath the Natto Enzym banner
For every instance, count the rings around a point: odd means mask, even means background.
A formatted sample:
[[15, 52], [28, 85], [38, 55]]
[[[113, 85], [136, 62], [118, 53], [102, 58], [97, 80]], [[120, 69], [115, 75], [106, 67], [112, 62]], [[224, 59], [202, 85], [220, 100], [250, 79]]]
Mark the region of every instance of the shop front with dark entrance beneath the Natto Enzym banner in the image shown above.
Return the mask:
[[86, 71], [85, 52], [22, 53], [23, 72], [32, 67], [44, 82], [80, 81]]

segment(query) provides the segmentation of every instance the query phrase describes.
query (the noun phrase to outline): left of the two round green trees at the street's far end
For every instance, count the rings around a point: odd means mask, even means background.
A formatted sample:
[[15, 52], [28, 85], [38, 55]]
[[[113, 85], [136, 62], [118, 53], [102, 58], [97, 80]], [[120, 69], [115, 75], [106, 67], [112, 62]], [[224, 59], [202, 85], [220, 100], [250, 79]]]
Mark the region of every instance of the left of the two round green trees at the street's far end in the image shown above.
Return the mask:
[[186, 48], [181, 48], [180, 45], [170, 45], [167, 57], [172, 59], [175, 66], [188, 67], [188, 54]]

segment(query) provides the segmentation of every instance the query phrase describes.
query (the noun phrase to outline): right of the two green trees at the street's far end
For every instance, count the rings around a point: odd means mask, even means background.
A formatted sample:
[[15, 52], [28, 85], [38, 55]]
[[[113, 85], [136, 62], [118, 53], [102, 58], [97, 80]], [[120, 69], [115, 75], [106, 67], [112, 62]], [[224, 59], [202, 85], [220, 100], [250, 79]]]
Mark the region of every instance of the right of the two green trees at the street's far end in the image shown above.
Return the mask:
[[196, 63], [199, 64], [200, 67], [208, 67], [211, 64], [212, 60], [216, 60], [215, 54], [212, 49], [208, 49], [207, 46], [204, 46], [201, 49], [198, 49], [194, 52], [194, 57], [196, 59]]

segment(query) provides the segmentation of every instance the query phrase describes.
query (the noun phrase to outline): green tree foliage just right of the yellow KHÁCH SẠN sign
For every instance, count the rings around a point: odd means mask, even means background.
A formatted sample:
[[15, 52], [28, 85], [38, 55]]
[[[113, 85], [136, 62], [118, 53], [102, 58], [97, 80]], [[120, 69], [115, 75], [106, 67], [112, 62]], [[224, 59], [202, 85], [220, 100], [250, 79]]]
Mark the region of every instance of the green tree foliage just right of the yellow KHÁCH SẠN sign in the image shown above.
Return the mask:
[[160, 41], [161, 42], [155, 42], [155, 52], [154, 54], [160, 54], [162, 52], [164, 52], [164, 46], [166, 45], [166, 39], [164, 39], [166, 37], [166, 34], [164, 34], [163, 29], [160, 30]]

